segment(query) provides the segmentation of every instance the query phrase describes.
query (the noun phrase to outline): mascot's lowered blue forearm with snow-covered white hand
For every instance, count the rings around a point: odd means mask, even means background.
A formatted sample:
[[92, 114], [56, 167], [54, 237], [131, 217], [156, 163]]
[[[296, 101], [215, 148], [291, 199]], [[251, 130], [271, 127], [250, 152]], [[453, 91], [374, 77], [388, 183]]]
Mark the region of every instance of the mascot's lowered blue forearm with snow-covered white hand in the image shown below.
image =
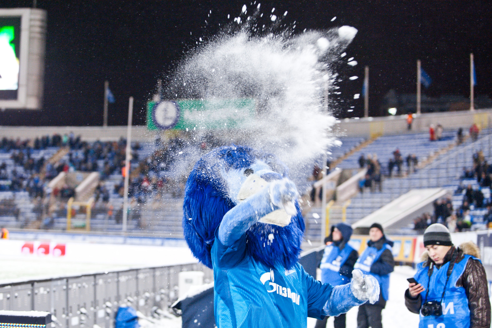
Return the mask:
[[328, 316], [338, 316], [350, 308], [362, 305], [369, 300], [374, 304], [379, 299], [379, 283], [371, 275], [364, 275], [361, 270], [352, 271], [349, 284], [336, 286], [323, 307]]

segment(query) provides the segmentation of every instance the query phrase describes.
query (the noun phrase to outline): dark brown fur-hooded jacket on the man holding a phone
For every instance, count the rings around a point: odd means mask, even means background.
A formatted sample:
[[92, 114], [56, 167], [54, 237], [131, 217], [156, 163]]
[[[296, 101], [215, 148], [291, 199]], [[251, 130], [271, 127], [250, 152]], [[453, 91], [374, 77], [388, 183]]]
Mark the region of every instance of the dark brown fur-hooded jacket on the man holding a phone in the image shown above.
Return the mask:
[[[464, 255], [472, 255], [476, 258], [480, 257], [480, 252], [473, 242], [464, 242], [458, 248], [458, 256], [455, 263], [459, 263], [463, 260]], [[444, 257], [442, 265], [450, 261], [452, 255], [452, 249]], [[428, 253], [425, 252], [422, 255], [424, 262], [423, 266], [428, 267], [431, 265], [432, 259]], [[436, 268], [440, 268], [442, 265], [435, 264]], [[427, 286], [424, 286], [427, 288]], [[474, 259], [469, 259], [466, 264], [466, 268], [463, 274], [456, 282], [456, 287], [463, 287], [468, 298], [468, 308], [470, 309], [470, 328], [490, 328], [491, 327], [491, 304], [489, 300], [489, 291], [487, 284], [487, 277], [485, 275], [485, 269], [482, 264]], [[416, 298], [410, 296], [408, 289], [405, 291], [405, 305], [410, 312], [419, 313], [422, 305], [421, 296]]]

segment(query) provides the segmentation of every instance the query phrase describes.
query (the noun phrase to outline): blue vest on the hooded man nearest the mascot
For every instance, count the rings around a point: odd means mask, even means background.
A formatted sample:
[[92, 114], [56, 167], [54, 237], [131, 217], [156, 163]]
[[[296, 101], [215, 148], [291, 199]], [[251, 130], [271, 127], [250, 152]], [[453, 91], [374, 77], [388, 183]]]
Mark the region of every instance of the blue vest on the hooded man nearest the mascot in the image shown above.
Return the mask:
[[342, 250], [338, 246], [329, 245], [325, 247], [323, 259], [319, 268], [321, 269], [321, 282], [329, 283], [332, 286], [345, 285], [350, 282], [350, 278], [340, 274], [340, 268], [347, 261], [350, 253], [354, 249], [345, 244]]

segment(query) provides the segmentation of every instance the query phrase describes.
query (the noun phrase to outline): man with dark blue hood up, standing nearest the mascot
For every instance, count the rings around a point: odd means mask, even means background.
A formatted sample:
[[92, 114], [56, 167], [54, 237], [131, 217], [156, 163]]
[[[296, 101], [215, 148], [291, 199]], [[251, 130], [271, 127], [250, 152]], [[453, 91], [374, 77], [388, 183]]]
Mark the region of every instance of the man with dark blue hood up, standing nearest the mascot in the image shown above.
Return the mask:
[[[352, 227], [345, 223], [332, 226], [330, 236], [325, 239], [327, 245], [321, 260], [321, 282], [332, 286], [345, 285], [352, 278], [354, 264], [359, 253], [347, 242], [352, 236]], [[314, 328], [325, 328], [328, 317], [318, 320]], [[345, 328], [345, 313], [335, 317], [335, 328]]]

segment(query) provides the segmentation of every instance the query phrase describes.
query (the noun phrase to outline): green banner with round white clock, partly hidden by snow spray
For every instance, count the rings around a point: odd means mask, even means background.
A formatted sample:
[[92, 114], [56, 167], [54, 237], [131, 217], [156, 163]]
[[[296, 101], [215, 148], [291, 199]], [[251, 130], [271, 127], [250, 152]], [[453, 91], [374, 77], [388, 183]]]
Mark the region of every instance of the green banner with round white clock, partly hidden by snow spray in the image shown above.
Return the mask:
[[255, 115], [252, 98], [149, 101], [147, 129], [231, 129], [244, 127]]

